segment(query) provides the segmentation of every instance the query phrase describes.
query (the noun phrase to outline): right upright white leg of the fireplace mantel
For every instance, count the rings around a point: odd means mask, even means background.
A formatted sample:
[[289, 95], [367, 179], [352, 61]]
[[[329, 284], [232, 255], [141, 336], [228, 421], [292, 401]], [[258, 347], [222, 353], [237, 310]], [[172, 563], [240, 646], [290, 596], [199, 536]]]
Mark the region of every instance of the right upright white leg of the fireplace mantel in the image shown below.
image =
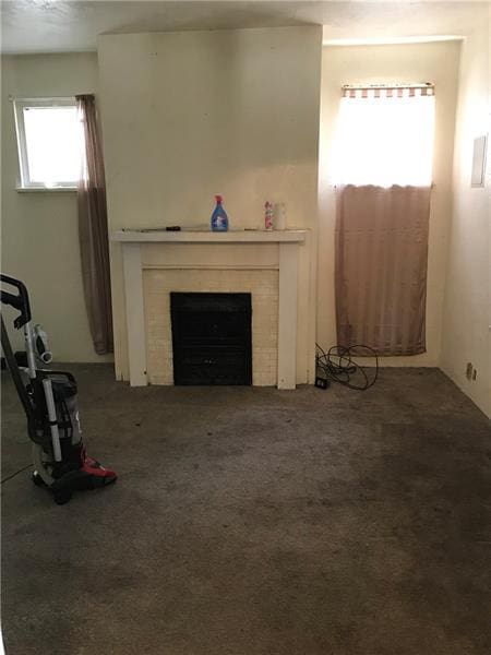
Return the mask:
[[297, 383], [298, 243], [279, 243], [278, 389]]

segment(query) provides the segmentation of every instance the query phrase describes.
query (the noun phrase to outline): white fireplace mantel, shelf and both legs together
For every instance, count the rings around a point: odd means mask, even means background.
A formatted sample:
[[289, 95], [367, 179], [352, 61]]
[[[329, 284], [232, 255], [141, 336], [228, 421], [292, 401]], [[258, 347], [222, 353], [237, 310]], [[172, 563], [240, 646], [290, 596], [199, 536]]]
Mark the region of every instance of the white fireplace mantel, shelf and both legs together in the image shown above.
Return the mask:
[[[141, 247], [145, 243], [236, 243], [246, 247], [277, 243], [278, 265], [278, 389], [295, 389], [297, 376], [297, 293], [298, 247], [306, 240], [306, 230], [139, 230], [122, 229], [111, 235], [111, 241], [122, 246], [124, 297], [128, 329], [130, 384], [144, 386], [146, 374], [146, 336], [143, 301], [143, 269]], [[251, 264], [254, 248], [251, 249]], [[197, 265], [196, 267], [200, 267]]]

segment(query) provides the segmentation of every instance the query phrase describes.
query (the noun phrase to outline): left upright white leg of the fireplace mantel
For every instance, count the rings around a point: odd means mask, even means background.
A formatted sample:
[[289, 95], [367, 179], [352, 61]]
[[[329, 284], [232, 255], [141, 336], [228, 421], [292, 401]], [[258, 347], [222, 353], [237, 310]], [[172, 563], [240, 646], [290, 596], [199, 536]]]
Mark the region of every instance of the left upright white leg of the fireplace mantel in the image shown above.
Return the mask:
[[131, 386], [146, 386], [145, 314], [140, 243], [123, 243], [124, 298]]

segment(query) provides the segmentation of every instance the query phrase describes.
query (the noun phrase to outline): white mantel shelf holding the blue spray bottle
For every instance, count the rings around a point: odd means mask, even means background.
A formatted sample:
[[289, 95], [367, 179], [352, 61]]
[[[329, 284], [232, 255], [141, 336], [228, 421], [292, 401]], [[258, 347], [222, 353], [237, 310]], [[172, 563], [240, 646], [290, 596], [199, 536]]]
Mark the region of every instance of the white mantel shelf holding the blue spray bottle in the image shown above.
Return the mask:
[[306, 240], [303, 229], [237, 229], [226, 233], [211, 230], [139, 230], [121, 229], [111, 234], [111, 241], [165, 243], [285, 243]]

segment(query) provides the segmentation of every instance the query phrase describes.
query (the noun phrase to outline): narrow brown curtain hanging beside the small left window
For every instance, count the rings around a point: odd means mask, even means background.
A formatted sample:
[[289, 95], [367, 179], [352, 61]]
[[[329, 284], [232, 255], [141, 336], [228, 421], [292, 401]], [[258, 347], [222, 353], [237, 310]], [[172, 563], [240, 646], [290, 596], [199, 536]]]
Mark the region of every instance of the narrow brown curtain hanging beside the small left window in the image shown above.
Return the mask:
[[77, 187], [82, 276], [94, 348], [104, 355], [113, 350], [104, 159], [94, 96], [79, 95], [76, 105], [83, 133]]

